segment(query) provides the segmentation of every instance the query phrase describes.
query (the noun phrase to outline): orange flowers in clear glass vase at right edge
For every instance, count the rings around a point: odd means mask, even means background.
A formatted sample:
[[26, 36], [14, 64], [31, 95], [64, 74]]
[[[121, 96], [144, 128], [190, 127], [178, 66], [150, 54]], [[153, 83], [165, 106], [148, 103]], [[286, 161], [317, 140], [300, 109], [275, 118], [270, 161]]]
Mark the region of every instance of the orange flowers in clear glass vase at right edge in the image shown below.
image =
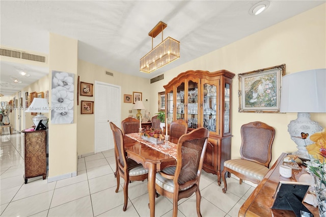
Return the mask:
[[315, 143], [306, 146], [306, 149], [314, 159], [310, 159], [306, 165], [314, 177], [319, 214], [324, 216], [326, 214], [326, 128], [312, 134], [310, 140]]

